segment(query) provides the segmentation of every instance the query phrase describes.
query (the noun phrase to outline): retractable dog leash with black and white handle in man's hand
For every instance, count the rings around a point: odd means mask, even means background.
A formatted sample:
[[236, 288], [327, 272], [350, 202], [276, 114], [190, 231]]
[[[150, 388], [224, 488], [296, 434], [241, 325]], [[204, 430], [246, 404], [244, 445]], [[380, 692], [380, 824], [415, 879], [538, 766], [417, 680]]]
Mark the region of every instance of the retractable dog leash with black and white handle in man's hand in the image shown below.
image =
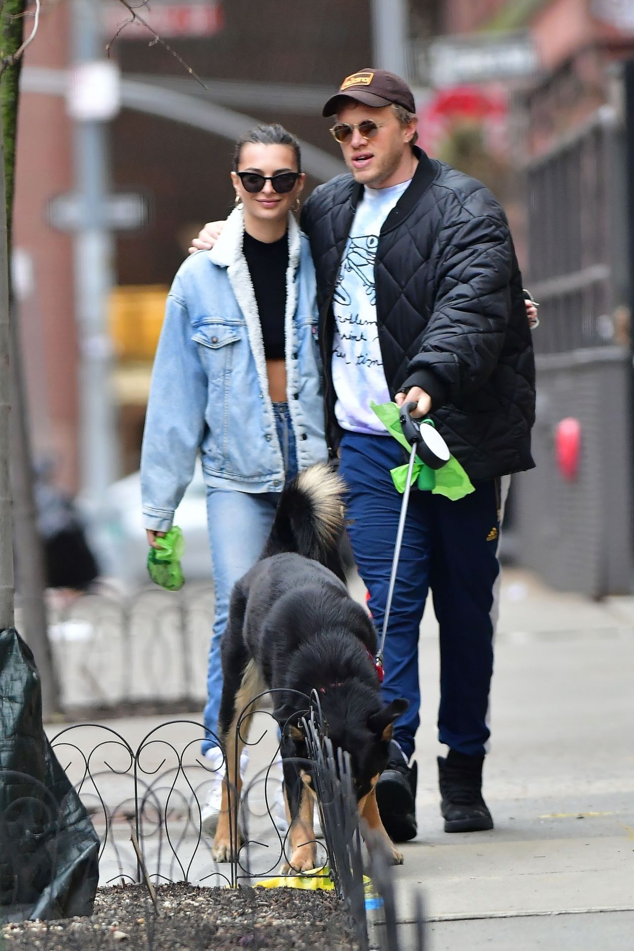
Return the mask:
[[410, 502], [410, 492], [412, 490], [413, 464], [416, 460], [416, 456], [418, 456], [430, 469], [440, 469], [449, 462], [451, 457], [449, 446], [440, 433], [438, 433], [433, 426], [427, 425], [424, 420], [419, 421], [412, 418], [412, 411], [415, 410], [415, 408], [416, 403], [403, 403], [399, 417], [403, 436], [412, 446], [412, 451], [410, 453], [407, 481], [405, 483], [403, 501], [401, 502], [401, 511], [398, 519], [398, 531], [396, 532], [392, 574], [390, 576], [390, 588], [388, 589], [388, 600], [383, 618], [381, 643], [375, 660], [376, 672], [378, 673], [378, 679], [381, 683], [383, 683], [383, 650], [385, 648], [385, 638], [388, 633], [388, 624], [390, 623], [390, 611], [392, 610], [392, 598], [394, 597], [398, 559], [400, 558], [401, 546], [403, 544], [405, 518], [407, 516], [407, 507]]

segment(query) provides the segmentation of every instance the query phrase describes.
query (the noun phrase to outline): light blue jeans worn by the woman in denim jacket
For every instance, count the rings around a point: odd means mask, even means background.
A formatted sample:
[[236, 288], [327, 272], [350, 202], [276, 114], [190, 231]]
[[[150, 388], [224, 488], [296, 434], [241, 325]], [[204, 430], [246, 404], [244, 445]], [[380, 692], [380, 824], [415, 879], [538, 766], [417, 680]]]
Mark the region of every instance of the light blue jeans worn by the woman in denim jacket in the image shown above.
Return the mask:
[[[286, 403], [274, 403], [279, 447], [284, 459], [286, 482], [298, 474], [298, 458], [291, 417]], [[232, 489], [207, 491], [207, 524], [216, 596], [214, 626], [207, 667], [207, 703], [204, 708], [205, 739], [202, 754], [218, 746], [218, 714], [221, 707], [221, 637], [229, 614], [231, 592], [243, 574], [255, 565], [273, 525], [279, 492], [263, 494]]]

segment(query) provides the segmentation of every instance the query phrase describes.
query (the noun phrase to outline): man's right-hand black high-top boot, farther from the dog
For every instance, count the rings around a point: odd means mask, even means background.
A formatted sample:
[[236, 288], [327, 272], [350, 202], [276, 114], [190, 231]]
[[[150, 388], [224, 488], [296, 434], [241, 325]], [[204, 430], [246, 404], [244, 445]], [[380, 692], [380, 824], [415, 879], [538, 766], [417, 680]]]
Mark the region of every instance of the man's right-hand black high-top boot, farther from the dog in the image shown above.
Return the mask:
[[438, 757], [440, 811], [445, 832], [484, 832], [493, 820], [482, 798], [484, 756], [466, 756], [450, 749], [447, 759]]

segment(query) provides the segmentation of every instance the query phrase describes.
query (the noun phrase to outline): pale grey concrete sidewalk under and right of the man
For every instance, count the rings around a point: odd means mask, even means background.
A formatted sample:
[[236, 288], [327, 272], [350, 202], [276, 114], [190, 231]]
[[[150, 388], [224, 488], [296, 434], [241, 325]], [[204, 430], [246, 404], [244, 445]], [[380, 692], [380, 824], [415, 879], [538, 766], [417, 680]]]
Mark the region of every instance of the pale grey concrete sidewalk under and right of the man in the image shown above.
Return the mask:
[[[415, 888], [431, 951], [634, 948], [634, 598], [597, 604], [505, 572], [485, 772], [495, 829], [471, 835], [445, 834], [438, 810], [431, 607], [421, 636], [419, 835], [395, 872], [405, 941]], [[107, 726], [134, 746], [166, 719]], [[160, 748], [151, 755], [158, 766]]]

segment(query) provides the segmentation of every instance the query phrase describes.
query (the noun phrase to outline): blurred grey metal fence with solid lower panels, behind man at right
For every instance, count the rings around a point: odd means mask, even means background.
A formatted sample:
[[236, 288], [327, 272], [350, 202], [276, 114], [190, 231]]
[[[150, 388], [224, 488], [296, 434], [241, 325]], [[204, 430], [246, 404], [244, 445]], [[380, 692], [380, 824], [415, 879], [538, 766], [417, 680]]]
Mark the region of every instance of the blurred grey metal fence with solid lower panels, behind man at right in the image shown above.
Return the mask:
[[[550, 585], [592, 597], [629, 592], [631, 344], [627, 130], [602, 107], [526, 168], [527, 286], [533, 337], [536, 469], [514, 480], [516, 548]], [[564, 471], [562, 420], [580, 439]]]

